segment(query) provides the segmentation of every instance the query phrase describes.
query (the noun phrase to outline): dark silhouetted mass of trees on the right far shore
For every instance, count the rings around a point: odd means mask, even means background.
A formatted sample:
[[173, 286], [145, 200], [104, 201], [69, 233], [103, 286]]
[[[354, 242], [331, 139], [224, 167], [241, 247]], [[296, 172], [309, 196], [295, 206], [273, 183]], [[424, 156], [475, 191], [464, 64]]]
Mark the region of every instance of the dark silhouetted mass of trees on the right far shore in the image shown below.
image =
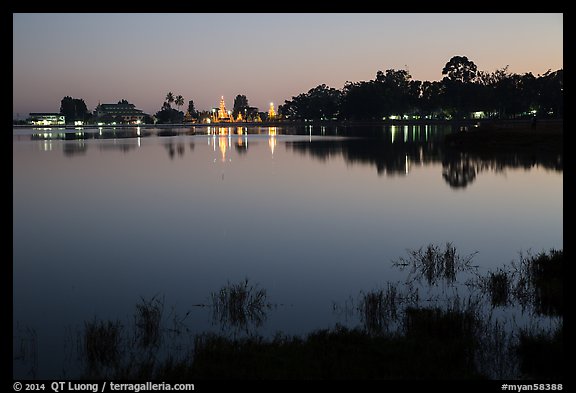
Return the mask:
[[407, 70], [378, 71], [370, 81], [346, 82], [341, 90], [325, 84], [286, 100], [279, 113], [294, 120], [364, 120], [410, 116], [466, 119], [482, 116], [562, 118], [563, 70], [534, 76], [508, 72], [508, 66], [479, 71], [466, 56], [452, 57], [440, 81], [413, 80]]

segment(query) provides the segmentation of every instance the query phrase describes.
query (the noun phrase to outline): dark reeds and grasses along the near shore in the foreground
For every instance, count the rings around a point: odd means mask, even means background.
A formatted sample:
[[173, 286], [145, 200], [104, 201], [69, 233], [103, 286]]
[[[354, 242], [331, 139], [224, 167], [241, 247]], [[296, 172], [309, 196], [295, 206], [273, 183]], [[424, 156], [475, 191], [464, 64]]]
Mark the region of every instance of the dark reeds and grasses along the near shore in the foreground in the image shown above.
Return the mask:
[[219, 334], [193, 334], [190, 311], [166, 313], [163, 298], [142, 297], [134, 323], [95, 318], [70, 337], [79, 378], [562, 381], [562, 250], [520, 253], [482, 272], [475, 253], [461, 256], [451, 243], [407, 252], [391, 261], [407, 271], [404, 282], [334, 302], [335, 313], [358, 316], [355, 327], [263, 337], [272, 297], [247, 278], [196, 305], [212, 310]]

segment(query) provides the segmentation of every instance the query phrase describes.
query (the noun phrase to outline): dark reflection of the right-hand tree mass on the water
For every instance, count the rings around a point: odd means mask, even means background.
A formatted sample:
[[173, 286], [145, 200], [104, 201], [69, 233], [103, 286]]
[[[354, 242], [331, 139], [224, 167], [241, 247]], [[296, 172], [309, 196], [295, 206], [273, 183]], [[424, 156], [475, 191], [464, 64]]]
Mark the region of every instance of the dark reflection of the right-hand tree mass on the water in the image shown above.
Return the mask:
[[[422, 132], [422, 129], [424, 132]], [[472, 184], [479, 173], [540, 166], [563, 171], [561, 151], [463, 152], [432, 137], [428, 126], [390, 126], [384, 138], [326, 139], [286, 142], [287, 148], [320, 161], [342, 156], [350, 164], [373, 165], [379, 176], [407, 176], [414, 166], [441, 163], [442, 178], [452, 188]]]

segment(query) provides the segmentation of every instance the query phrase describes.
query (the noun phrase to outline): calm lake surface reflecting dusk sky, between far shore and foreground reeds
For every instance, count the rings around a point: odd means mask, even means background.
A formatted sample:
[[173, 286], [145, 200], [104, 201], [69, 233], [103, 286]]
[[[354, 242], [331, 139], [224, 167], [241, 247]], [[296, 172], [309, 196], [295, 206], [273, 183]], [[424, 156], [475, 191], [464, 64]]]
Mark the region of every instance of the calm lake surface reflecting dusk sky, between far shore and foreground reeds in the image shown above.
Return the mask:
[[14, 378], [74, 377], [85, 321], [133, 323], [142, 299], [219, 332], [211, 295], [248, 279], [272, 305], [254, 331], [301, 335], [357, 325], [337, 305], [403, 280], [407, 250], [450, 242], [488, 271], [562, 249], [562, 157], [449, 151], [449, 132], [14, 128]]

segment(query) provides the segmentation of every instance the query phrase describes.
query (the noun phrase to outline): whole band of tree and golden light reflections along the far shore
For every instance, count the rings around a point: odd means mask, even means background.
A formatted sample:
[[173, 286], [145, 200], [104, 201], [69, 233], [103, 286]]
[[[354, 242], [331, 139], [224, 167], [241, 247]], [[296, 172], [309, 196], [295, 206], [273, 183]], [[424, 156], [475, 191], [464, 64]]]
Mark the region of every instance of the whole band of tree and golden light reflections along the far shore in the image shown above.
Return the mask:
[[[38, 140], [40, 149], [52, 151], [61, 146], [67, 157], [83, 156], [88, 150], [89, 139], [123, 139], [123, 143], [98, 144], [99, 149], [119, 149], [129, 152], [141, 146], [141, 139], [157, 135], [159, 137], [181, 137], [182, 135], [209, 136], [208, 145], [218, 157], [214, 160], [231, 162], [232, 146], [238, 154], [248, 152], [251, 135], [267, 135], [270, 154], [278, 147], [278, 135], [308, 135], [307, 140], [286, 141], [287, 150], [327, 161], [330, 157], [341, 156], [350, 164], [371, 165], [379, 176], [407, 176], [415, 166], [441, 163], [442, 178], [451, 188], [465, 188], [472, 184], [483, 171], [502, 172], [507, 168], [541, 166], [555, 171], [563, 170], [562, 152], [465, 152], [450, 148], [444, 143], [444, 136], [452, 132], [450, 127], [431, 125], [385, 125], [373, 127], [204, 127], [145, 129], [94, 130], [35, 130], [31, 140]], [[313, 136], [342, 135], [344, 138], [312, 138]], [[356, 136], [346, 138], [345, 136]], [[359, 136], [359, 137], [358, 137]], [[166, 149], [171, 159], [183, 157], [185, 143], [167, 138]], [[257, 142], [257, 139], [252, 139]], [[58, 141], [67, 143], [58, 144]], [[128, 141], [134, 141], [130, 143]], [[76, 142], [76, 143], [73, 143]], [[252, 142], [251, 142], [252, 143]], [[190, 142], [190, 150], [194, 142]]]

